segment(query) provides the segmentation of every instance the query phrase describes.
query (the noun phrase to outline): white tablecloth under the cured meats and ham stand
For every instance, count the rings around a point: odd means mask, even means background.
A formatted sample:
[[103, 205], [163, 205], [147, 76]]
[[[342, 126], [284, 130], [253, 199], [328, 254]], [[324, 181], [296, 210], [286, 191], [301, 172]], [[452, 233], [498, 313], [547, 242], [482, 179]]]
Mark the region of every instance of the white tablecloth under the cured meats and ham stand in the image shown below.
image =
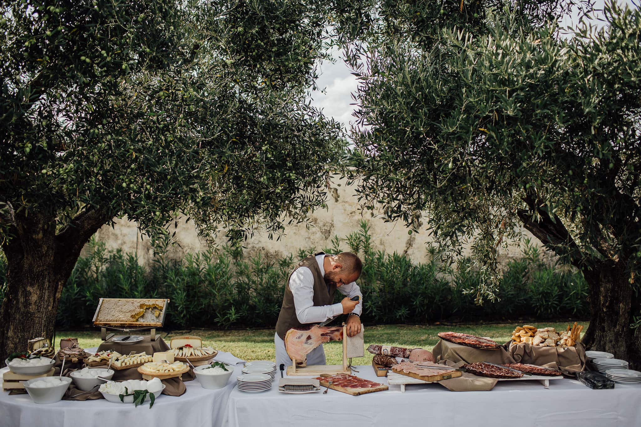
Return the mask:
[[[356, 374], [387, 384], [371, 366]], [[492, 391], [451, 392], [437, 383], [399, 385], [388, 391], [350, 396], [329, 390], [292, 395], [233, 389], [228, 424], [246, 426], [635, 426], [641, 425], [641, 383], [592, 390], [576, 380], [499, 381]]]

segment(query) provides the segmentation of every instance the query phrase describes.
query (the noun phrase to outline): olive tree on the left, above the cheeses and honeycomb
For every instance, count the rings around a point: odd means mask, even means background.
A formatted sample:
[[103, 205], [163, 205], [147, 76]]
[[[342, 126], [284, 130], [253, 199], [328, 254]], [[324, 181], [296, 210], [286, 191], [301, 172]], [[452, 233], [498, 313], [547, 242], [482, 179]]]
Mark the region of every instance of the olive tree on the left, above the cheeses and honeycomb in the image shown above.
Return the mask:
[[[0, 351], [53, 334], [83, 245], [127, 216], [154, 244], [283, 230], [344, 144], [310, 107], [322, 1], [0, 1]], [[4, 360], [4, 357], [2, 358]]]

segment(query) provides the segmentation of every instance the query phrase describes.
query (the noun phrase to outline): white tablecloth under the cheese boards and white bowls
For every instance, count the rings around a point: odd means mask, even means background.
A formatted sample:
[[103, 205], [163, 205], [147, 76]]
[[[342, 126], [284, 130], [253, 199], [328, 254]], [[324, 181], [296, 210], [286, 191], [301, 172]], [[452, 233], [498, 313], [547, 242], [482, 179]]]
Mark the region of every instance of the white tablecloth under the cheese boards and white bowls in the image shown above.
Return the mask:
[[[0, 369], [0, 375], [8, 368]], [[185, 383], [182, 396], [161, 395], [153, 408], [149, 403], [111, 403], [105, 399], [87, 401], [63, 400], [49, 405], [33, 403], [28, 394], [9, 396], [0, 391], [0, 426], [105, 427], [105, 426], [222, 426], [229, 392], [236, 385], [236, 367], [224, 389], [207, 390], [198, 380]]]

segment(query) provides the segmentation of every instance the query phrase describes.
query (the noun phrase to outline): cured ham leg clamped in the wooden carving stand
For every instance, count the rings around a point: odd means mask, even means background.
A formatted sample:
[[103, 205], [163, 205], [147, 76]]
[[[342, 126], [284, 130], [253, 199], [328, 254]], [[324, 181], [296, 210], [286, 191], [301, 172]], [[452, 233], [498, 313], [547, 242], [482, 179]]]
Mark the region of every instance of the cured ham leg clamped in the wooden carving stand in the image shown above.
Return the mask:
[[343, 339], [343, 328], [330, 326], [307, 326], [291, 328], [285, 334], [285, 350], [296, 366], [307, 366], [307, 355], [323, 342]]

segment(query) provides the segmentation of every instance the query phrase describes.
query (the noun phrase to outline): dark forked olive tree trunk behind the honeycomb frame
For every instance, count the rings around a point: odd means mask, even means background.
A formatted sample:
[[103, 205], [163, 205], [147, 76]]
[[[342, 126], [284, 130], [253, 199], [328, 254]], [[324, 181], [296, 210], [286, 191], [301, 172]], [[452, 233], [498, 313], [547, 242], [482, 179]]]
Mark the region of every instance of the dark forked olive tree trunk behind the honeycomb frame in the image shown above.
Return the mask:
[[56, 234], [50, 217], [12, 216], [12, 238], [2, 246], [7, 289], [0, 309], [0, 366], [14, 351], [27, 350], [29, 339], [53, 339], [63, 286], [83, 246], [105, 222], [96, 211], [85, 211]]

